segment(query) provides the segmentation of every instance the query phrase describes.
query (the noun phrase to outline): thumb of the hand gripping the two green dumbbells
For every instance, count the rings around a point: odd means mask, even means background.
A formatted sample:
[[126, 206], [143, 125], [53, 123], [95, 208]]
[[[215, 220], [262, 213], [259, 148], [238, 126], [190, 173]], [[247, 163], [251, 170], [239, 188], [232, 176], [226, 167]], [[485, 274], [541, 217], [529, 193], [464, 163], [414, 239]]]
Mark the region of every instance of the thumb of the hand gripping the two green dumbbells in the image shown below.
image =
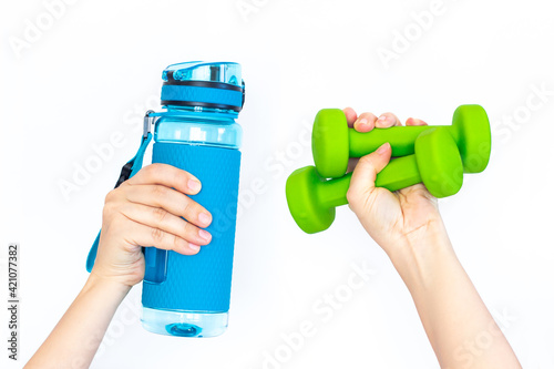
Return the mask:
[[371, 194], [376, 187], [376, 177], [379, 172], [390, 161], [391, 148], [387, 142], [382, 144], [376, 152], [362, 156], [352, 173], [350, 187], [348, 188], [348, 202], [356, 202], [359, 195]]

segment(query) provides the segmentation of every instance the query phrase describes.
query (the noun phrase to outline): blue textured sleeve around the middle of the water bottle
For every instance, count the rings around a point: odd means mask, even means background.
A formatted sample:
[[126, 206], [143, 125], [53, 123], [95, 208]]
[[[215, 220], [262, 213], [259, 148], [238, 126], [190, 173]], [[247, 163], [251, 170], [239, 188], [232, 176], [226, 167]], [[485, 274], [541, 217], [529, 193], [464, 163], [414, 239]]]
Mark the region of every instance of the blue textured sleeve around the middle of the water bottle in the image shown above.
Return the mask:
[[155, 143], [153, 163], [185, 170], [202, 182], [191, 196], [212, 213], [212, 242], [193, 256], [145, 249], [142, 303], [153, 309], [227, 311], [238, 199], [240, 152], [214, 146]]

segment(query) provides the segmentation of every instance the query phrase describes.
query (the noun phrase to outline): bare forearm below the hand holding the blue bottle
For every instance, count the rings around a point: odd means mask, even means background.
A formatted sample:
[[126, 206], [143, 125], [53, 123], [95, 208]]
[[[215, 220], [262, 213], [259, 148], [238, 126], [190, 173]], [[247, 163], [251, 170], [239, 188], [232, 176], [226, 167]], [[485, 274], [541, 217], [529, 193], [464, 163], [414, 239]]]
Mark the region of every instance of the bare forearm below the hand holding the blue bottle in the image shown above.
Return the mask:
[[89, 368], [129, 287], [91, 274], [25, 368]]

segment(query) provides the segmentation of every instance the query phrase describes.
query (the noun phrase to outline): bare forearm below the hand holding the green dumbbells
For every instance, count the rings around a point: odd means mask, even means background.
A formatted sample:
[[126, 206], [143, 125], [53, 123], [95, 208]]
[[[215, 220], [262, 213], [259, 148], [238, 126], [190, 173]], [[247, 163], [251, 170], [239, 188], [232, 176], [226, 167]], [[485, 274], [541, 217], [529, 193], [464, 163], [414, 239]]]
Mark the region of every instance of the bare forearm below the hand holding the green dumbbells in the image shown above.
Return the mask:
[[[521, 368], [443, 229], [411, 235], [391, 257], [442, 368]], [[421, 237], [420, 237], [421, 236]]]

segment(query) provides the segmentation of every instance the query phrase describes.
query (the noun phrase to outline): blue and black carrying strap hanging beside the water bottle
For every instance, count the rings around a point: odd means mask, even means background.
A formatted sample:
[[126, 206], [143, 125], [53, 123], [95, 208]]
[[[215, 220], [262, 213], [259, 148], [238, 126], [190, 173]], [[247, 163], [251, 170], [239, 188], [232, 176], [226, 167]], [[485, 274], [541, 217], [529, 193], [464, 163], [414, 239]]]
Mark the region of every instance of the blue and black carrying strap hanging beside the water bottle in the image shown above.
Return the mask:
[[[117, 180], [117, 183], [115, 184], [114, 188], [117, 188], [123, 182], [131, 178], [142, 168], [144, 153], [146, 152], [146, 147], [148, 146], [152, 140], [152, 133], [150, 132], [150, 126], [155, 122], [155, 120], [156, 116], [154, 116], [154, 111], [148, 110], [144, 115], [144, 127], [143, 127], [143, 136], [141, 140], [141, 146], [138, 147], [136, 155], [121, 168], [120, 178]], [[89, 252], [89, 256], [86, 257], [86, 270], [89, 273], [92, 270], [92, 267], [94, 266], [94, 260], [96, 259], [101, 232], [102, 229], [100, 229], [96, 239], [94, 239], [91, 250]]]

